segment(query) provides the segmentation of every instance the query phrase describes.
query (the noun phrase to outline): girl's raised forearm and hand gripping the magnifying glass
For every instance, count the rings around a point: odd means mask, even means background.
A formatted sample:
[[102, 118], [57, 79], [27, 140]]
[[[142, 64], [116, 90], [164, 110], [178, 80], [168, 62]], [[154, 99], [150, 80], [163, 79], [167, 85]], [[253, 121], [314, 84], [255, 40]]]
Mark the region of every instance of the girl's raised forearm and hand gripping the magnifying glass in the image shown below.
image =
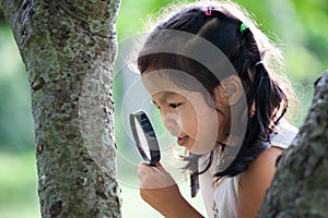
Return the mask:
[[180, 194], [171, 174], [161, 166], [139, 165], [140, 196], [167, 218], [202, 217]]

